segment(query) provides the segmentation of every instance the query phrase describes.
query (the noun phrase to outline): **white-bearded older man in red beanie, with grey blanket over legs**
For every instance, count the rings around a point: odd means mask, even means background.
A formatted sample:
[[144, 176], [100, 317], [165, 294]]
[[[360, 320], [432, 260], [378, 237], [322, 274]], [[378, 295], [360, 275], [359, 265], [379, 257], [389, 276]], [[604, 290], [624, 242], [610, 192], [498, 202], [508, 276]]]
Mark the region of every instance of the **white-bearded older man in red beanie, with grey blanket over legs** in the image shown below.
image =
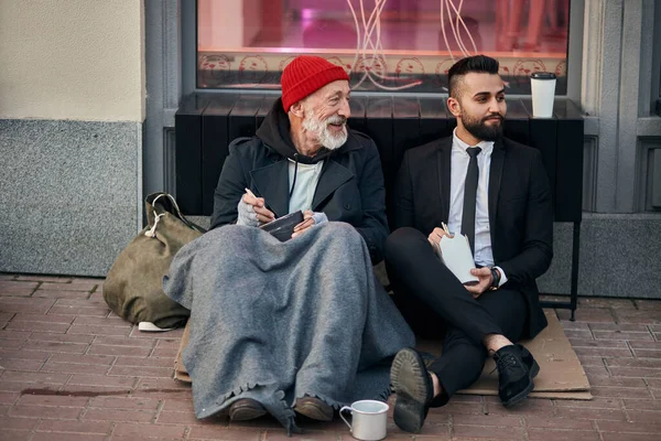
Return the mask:
[[[165, 291], [191, 309], [184, 365], [198, 418], [329, 421], [386, 399], [392, 356], [414, 337], [375, 280], [388, 236], [373, 141], [347, 127], [349, 77], [317, 56], [282, 74], [253, 138], [235, 140], [212, 230], [175, 257]], [[262, 226], [302, 212], [279, 241]]]

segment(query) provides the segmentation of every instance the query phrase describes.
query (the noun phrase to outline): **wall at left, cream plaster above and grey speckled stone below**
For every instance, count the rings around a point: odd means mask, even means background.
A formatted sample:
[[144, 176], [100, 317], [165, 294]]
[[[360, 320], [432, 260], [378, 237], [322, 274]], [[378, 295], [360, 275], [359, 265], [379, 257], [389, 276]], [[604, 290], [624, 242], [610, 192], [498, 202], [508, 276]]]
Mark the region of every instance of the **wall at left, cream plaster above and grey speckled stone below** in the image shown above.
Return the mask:
[[0, 11], [0, 271], [102, 276], [142, 224], [142, 1]]

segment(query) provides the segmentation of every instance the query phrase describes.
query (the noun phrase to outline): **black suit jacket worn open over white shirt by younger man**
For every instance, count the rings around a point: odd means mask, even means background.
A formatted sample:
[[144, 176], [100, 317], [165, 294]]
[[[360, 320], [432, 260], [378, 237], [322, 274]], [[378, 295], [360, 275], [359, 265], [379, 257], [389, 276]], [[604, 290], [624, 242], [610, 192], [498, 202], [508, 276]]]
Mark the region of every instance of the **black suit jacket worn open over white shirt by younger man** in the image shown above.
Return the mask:
[[[393, 192], [394, 228], [427, 236], [449, 215], [452, 137], [405, 152]], [[553, 257], [551, 189], [540, 152], [503, 138], [494, 146], [489, 174], [489, 224], [495, 265], [507, 287], [528, 301], [528, 336], [546, 326], [535, 279]]]

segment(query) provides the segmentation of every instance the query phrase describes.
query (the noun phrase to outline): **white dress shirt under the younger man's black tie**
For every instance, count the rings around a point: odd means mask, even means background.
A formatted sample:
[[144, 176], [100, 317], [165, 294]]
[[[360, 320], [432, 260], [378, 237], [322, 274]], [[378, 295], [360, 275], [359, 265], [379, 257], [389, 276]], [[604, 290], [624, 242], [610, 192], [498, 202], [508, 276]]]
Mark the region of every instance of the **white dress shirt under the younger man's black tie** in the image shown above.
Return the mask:
[[[477, 146], [469, 146], [457, 138], [456, 129], [453, 132], [451, 152], [451, 180], [449, 180], [449, 215], [447, 228], [451, 233], [462, 232], [462, 215], [464, 212], [464, 186], [470, 157], [466, 152], [469, 147], [479, 147], [477, 155], [479, 176], [477, 180], [477, 196], [475, 207], [475, 263], [483, 267], [494, 266], [494, 251], [491, 250], [491, 233], [489, 226], [489, 172], [491, 168], [492, 141], [481, 141]], [[500, 267], [499, 287], [507, 282], [507, 276]]]

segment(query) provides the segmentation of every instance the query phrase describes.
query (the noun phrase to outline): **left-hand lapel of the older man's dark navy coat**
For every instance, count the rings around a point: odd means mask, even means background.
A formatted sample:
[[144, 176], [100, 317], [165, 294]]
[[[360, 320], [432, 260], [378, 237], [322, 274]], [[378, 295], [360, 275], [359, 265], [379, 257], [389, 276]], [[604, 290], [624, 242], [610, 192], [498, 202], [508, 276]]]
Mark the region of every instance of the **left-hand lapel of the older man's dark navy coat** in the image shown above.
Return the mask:
[[258, 196], [264, 198], [275, 217], [289, 213], [289, 161], [282, 160], [250, 171]]

